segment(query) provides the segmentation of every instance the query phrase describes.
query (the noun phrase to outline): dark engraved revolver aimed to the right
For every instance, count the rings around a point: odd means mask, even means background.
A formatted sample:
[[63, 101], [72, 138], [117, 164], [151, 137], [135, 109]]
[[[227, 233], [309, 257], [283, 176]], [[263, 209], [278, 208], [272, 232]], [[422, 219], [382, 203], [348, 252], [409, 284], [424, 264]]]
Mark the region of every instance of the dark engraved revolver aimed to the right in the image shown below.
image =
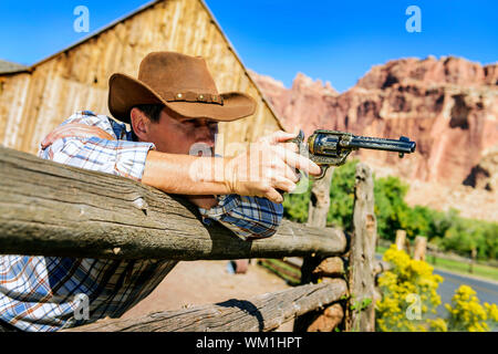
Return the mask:
[[307, 156], [321, 167], [321, 179], [330, 166], [341, 166], [347, 156], [359, 148], [370, 148], [376, 150], [395, 152], [403, 157], [404, 154], [415, 152], [416, 143], [406, 136], [396, 139], [386, 139], [367, 136], [356, 136], [346, 132], [318, 129], [304, 143], [304, 133], [300, 131], [298, 136], [288, 140], [299, 146], [299, 153]]

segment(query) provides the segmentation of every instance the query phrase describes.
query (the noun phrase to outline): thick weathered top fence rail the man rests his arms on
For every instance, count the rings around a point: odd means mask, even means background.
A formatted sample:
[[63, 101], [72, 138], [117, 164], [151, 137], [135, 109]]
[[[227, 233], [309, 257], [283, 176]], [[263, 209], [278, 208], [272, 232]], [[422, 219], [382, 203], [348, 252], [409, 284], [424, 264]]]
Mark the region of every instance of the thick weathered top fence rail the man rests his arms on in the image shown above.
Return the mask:
[[10, 254], [221, 260], [343, 253], [342, 231], [283, 221], [245, 241], [195, 207], [127, 178], [0, 147], [0, 249]]

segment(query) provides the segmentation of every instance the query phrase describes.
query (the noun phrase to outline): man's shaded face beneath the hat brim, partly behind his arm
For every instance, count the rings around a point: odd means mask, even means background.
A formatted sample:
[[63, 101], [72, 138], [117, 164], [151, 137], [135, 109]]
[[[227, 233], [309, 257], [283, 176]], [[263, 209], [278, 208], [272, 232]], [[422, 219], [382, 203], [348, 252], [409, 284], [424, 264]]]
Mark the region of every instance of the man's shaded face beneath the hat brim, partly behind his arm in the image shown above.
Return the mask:
[[162, 153], [189, 154], [209, 148], [212, 156], [217, 133], [216, 121], [188, 118], [164, 108], [159, 122], [151, 122], [147, 142], [154, 143]]

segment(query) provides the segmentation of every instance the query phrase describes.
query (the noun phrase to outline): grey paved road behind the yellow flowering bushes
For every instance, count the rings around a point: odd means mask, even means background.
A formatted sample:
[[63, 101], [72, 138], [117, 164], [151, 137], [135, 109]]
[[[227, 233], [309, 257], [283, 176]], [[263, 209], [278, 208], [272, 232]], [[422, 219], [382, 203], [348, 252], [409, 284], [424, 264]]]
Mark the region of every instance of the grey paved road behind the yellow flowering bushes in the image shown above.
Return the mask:
[[[382, 257], [377, 254], [376, 258], [381, 259]], [[435, 269], [434, 273], [444, 278], [444, 281], [437, 289], [442, 301], [442, 305], [436, 309], [437, 316], [446, 317], [447, 311], [444, 309], [444, 304], [452, 302], [455, 290], [463, 284], [469, 285], [476, 291], [476, 295], [481, 304], [485, 302], [498, 304], [498, 282], [479, 280], [439, 269]], [[494, 329], [494, 332], [498, 332], [498, 326]]]

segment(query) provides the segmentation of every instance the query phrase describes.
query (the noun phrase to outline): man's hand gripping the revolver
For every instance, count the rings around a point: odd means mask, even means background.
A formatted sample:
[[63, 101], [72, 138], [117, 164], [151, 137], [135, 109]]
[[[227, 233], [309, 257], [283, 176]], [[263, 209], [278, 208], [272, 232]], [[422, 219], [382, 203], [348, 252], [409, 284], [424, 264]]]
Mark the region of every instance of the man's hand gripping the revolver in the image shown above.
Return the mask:
[[232, 194], [264, 197], [282, 202], [278, 191], [292, 191], [299, 181], [294, 169], [318, 176], [320, 167], [298, 154], [298, 146], [286, 143], [297, 134], [276, 132], [251, 144], [248, 152], [229, 159], [225, 166], [225, 184]]

